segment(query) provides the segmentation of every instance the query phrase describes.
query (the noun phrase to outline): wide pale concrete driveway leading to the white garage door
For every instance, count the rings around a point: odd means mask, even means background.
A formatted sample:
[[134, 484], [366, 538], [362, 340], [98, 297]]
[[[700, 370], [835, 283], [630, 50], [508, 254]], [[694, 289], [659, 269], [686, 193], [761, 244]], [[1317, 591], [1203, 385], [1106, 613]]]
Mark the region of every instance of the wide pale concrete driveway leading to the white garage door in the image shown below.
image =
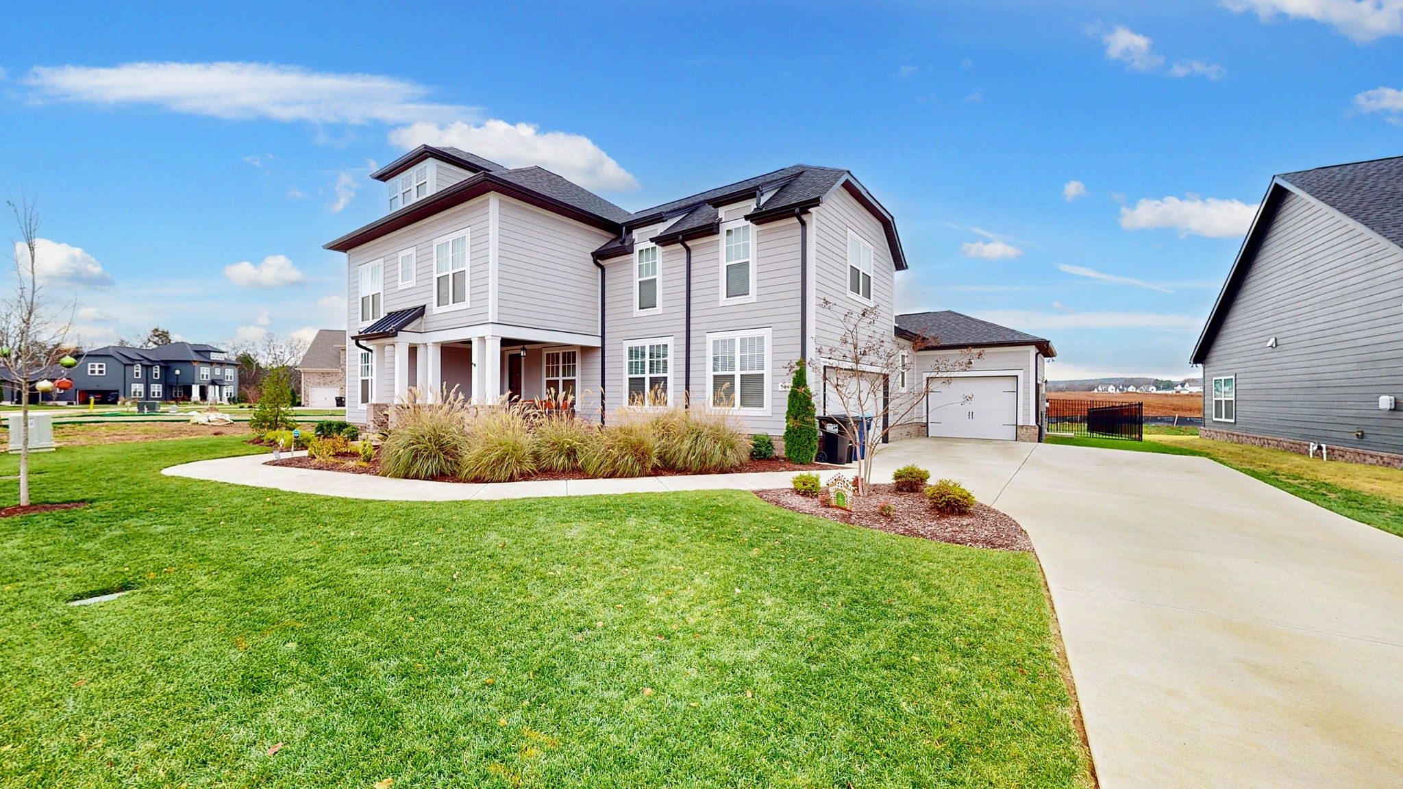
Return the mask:
[[1205, 458], [912, 439], [1027, 529], [1101, 786], [1403, 786], [1403, 538]]

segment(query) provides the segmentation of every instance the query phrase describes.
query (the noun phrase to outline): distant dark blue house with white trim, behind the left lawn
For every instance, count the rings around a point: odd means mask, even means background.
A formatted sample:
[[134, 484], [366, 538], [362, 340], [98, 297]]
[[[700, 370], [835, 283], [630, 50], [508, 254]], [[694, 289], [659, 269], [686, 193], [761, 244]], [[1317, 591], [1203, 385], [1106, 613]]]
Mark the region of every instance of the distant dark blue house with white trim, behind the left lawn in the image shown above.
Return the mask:
[[79, 357], [69, 378], [80, 404], [88, 399], [229, 403], [239, 393], [237, 361], [198, 343], [94, 348]]

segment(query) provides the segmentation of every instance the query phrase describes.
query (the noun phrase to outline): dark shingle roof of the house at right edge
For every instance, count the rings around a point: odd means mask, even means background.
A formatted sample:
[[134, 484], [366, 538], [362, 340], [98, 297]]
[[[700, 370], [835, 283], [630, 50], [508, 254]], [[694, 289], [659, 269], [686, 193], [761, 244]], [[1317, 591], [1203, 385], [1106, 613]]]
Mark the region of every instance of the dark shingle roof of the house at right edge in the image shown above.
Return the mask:
[[1316, 167], [1277, 178], [1403, 246], [1403, 156]]

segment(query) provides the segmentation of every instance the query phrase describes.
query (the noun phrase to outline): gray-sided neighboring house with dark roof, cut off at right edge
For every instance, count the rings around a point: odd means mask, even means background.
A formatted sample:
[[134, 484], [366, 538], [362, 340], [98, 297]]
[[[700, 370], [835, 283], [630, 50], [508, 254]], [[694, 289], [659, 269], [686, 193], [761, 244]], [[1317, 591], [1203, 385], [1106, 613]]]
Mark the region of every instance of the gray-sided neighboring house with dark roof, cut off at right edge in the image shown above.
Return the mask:
[[1191, 357], [1202, 434], [1403, 465], [1400, 319], [1403, 157], [1277, 175]]

